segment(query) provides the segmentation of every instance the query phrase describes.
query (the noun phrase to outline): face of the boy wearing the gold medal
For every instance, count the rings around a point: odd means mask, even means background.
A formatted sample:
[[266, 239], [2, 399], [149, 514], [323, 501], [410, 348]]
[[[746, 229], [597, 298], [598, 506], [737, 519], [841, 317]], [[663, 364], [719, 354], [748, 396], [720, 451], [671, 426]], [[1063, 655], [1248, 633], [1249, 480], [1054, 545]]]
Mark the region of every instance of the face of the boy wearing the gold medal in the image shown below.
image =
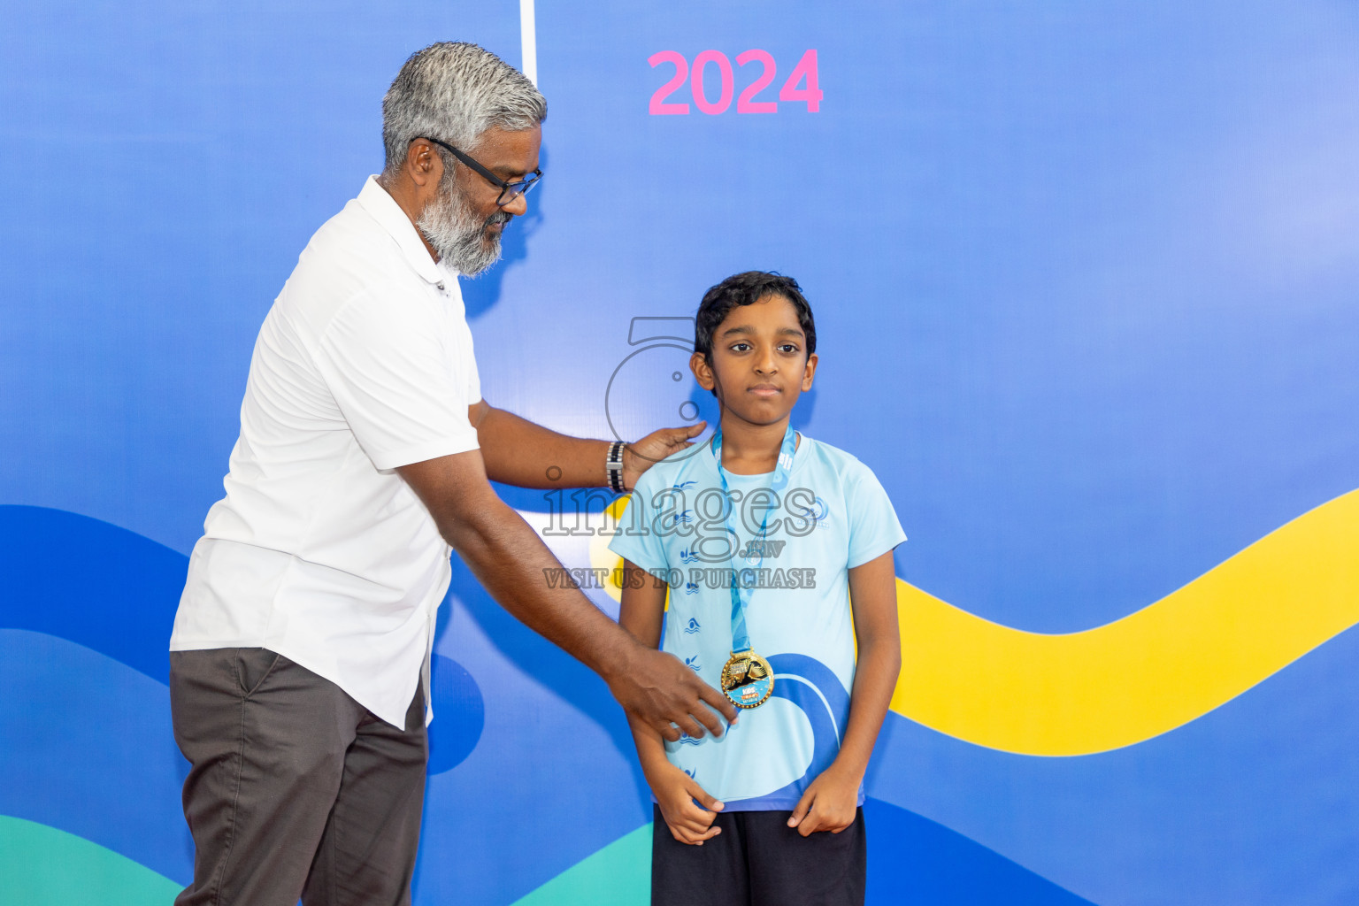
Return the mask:
[[769, 425], [787, 418], [802, 391], [811, 388], [817, 356], [807, 355], [792, 303], [765, 296], [727, 312], [712, 331], [712, 364], [696, 352], [689, 368], [699, 386], [718, 394], [723, 414]]

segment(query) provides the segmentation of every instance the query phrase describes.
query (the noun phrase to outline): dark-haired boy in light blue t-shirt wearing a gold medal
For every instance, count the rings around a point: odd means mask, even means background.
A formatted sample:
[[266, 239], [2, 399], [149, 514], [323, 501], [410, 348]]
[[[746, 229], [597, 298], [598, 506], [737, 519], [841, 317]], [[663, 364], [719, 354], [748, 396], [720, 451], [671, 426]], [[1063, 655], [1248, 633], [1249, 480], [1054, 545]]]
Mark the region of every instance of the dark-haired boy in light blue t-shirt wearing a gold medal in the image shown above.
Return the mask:
[[694, 333], [720, 428], [637, 481], [610, 543], [618, 619], [742, 710], [720, 738], [632, 725], [656, 800], [651, 902], [863, 903], [863, 774], [901, 667], [905, 535], [863, 463], [788, 424], [817, 369], [795, 280], [728, 277]]

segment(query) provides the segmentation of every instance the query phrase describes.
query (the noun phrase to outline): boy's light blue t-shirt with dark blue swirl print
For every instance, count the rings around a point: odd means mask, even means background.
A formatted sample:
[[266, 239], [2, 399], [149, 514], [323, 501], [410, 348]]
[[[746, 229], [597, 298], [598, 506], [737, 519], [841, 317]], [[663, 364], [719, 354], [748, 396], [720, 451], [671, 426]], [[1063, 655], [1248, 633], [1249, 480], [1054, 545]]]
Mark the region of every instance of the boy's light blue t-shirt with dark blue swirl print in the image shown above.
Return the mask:
[[[834, 761], [855, 671], [848, 570], [906, 539], [877, 477], [843, 450], [803, 436], [777, 501], [761, 493], [771, 479], [727, 473], [739, 497], [731, 520], [737, 554], [728, 560], [711, 444], [675, 454], [637, 481], [609, 545], [669, 580], [660, 648], [713, 687], [720, 687], [731, 655], [731, 591], [724, 581], [733, 566], [757, 570], [743, 576], [761, 583], [746, 606], [746, 623], [756, 653], [773, 667], [773, 694], [742, 710], [720, 738], [666, 743], [670, 762], [727, 811], [791, 810]], [[777, 505], [765, 509], [769, 503]], [[747, 542], [766, 513], [769, 543], [761, 561]]]

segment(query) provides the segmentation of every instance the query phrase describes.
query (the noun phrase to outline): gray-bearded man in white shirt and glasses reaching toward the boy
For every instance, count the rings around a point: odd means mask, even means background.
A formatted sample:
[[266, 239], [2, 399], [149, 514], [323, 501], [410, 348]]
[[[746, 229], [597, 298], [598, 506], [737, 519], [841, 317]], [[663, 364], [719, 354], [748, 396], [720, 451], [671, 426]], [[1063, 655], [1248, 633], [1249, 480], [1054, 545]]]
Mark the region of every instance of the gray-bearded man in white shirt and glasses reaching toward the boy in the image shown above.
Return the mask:
[[549, 588], [557, 561], [488, 484], [631, 486], [701, 429], [624, 451], [481, 399], [457, 276], [491, 266], [526, 211], [545, 117], [477, 46], [410, 57], [383, 101], [386, 168], [313, 236], [260, 330], [170, 640], [196, 846], [181, 906], [409, 902], [450, 547], [670, 739], [734, 717], [682, 663]]

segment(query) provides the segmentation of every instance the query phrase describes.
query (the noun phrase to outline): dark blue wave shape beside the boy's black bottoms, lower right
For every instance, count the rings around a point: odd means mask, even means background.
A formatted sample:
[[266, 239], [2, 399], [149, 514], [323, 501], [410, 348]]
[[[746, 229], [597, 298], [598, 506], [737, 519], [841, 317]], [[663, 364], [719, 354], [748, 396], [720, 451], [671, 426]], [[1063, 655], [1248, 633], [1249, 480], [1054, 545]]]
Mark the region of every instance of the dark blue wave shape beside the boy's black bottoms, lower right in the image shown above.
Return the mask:
[[1041, 875], [881, 799], [863, 804], [871, 906], [1091, 906]]

